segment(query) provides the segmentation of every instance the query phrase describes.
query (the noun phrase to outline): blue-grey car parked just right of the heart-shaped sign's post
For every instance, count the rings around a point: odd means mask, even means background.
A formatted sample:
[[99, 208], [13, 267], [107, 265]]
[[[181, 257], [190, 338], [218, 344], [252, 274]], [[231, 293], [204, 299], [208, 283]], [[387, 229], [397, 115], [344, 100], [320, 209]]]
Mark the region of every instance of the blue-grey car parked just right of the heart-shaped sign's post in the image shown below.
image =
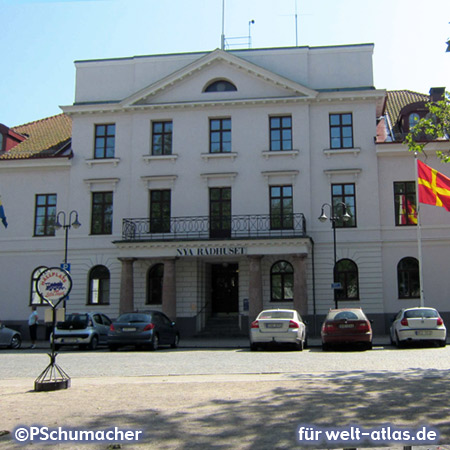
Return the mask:
[[56, 324], [55, 349], [78, 345], [80, 348], [95, 350], [99, 345], [106, 345], [111, 323], [108, 316], [98, 312], [67, 314], [64, 322]]

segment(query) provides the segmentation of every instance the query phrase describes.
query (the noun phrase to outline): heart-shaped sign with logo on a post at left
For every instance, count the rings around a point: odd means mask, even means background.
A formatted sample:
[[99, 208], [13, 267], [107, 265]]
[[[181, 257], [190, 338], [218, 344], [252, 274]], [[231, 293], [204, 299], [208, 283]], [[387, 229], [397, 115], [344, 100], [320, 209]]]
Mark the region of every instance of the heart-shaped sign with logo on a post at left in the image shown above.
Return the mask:
[[37, 293], [53, 307], [64, 300], [71, 289], [72, 278], [69, 272], [59, 267], [44, 270], [36, 280]]

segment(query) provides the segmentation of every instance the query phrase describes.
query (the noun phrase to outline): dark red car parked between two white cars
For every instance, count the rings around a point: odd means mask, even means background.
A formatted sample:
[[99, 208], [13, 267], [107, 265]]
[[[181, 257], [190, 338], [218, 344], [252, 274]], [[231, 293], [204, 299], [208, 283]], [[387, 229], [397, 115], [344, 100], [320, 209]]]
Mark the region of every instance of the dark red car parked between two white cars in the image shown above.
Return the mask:
[[372, 348], [372, 326], [361, 308], [330, 309], [322, 324], [322, 349], [338, 344]]

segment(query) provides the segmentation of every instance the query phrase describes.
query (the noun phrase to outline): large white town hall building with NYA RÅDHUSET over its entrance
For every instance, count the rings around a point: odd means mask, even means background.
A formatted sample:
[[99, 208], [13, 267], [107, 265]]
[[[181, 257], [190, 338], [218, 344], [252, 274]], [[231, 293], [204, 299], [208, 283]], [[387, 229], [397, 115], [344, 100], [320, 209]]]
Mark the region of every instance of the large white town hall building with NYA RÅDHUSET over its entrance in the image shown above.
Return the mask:
[[[415, 205], [414, 158], [400, 136], [429, 96], [375, 89], [372, 54], [363, 44], [76, 62], [73, 105], [12, 128], [23, 141], [0, 156], [0, 319], [24, 324], [42, 303], [33, 280], [64, 261], [68, 311], [159, 309], [190, 336], [217, 318], [245, 333], [262, 308], [289, 307], [314, 333], [336, 302], [385, 333], [417, 304], [416, 227], [401, 207], [402, 195]], [[450, 318], [447, 216], [430, 208], [424, 284]]]

